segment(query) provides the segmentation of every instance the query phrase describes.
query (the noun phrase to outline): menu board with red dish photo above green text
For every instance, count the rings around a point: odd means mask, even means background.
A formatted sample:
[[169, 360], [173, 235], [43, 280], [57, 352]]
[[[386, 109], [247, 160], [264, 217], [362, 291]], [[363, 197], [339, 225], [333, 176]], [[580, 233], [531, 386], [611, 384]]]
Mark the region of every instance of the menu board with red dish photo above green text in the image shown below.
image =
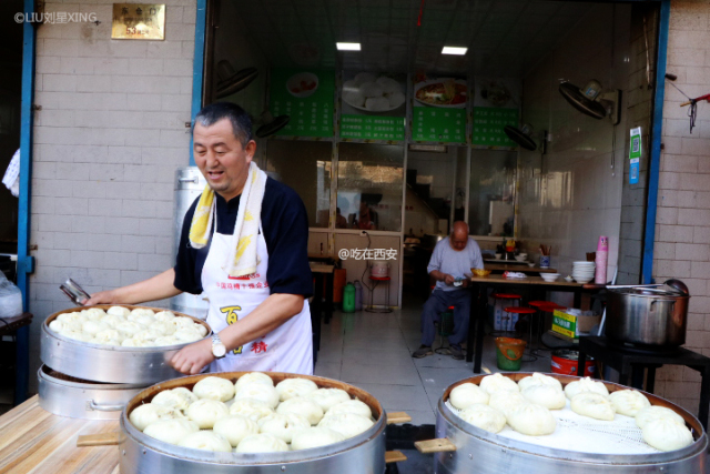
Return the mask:
[[417, 77], [412, 138], [415, 141], [466, 143], [466, 80]]

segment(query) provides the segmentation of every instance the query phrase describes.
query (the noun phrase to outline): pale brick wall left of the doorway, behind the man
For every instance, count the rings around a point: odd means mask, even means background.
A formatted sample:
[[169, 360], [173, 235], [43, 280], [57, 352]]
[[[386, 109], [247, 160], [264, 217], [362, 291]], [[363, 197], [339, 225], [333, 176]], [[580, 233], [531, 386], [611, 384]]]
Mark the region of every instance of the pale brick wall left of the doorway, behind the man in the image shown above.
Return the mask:
[[[71, 306], [59, 284], [89, 292], [172, 266], [173, 180], [190, 161], [195, 0], [165, 0], [165, 40], [111, 40], [111, 0], [47, 0], [94, 23], [38, 29], [32, 170], [30, 373], [39, 327]], [[164, 302], [163, 302], [164, 303]], [[37, 380], [30, 377], [30, 391]]]

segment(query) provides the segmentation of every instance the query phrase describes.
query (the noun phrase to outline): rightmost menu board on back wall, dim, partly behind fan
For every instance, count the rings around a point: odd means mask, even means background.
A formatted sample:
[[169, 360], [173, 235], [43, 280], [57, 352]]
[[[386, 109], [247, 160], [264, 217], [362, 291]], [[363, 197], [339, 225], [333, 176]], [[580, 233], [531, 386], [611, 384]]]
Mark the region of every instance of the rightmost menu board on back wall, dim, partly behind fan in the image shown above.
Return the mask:
[[520, 81], [510, 78], [475, 78], [471, 144], [485, 148], [516, 148], [503, 129], [518, 127]]

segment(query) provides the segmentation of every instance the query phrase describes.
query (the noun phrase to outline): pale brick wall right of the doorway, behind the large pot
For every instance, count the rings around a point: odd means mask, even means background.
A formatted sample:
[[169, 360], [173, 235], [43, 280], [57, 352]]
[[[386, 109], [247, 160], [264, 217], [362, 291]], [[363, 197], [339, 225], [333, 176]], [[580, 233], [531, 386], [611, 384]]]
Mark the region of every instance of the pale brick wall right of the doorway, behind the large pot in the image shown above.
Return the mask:
[[[710, 2], [671, 1], [667, 70], [689, 97], [710, 92]], [[686, 347], [710, 356], [710, 107], [699, 103], [689, 130], [688, 108], [666, 85], [663, 151], [658, 195], [653, 278], [678, 278], [690, 289]], [[683, 367], [657, 372], [656, 392], [698, 413], [700, 376]]]

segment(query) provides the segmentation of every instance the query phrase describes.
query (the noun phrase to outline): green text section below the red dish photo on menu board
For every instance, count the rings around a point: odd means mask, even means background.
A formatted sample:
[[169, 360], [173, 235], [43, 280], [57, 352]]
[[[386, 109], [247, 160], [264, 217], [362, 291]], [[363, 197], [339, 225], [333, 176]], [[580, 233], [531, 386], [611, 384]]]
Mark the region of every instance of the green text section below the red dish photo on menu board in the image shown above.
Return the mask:
[[416, 141], [466, 143], [466, 110], [415, 107], [412, 120]]

